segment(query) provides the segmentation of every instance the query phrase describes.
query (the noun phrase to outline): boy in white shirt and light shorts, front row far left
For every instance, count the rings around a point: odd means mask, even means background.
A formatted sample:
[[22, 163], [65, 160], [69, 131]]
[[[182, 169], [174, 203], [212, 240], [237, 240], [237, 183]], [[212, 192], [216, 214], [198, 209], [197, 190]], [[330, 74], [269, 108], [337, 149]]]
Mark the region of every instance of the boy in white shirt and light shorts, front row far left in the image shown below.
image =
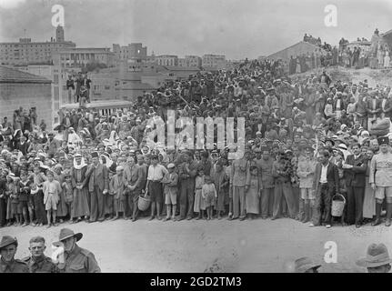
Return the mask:
[[47, 217], [47, 228], [52, 226], [51, 218], [53, 218], [53, 226], [57, 226], [55, 223], [55, 215], [57, 211], [57, 204], [60, 199], [60, 192], [62, 191], [60, 182], [54, 179], [54, 173], [48, 171], [47, 181], [44, 182], [44, 204]]

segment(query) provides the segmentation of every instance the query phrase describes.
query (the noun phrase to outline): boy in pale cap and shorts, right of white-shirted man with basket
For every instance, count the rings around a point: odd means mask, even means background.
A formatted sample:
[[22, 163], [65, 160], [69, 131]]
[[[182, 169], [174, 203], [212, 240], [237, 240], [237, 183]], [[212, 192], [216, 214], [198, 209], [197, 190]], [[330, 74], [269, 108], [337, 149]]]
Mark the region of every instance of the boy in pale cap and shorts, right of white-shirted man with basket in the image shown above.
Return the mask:
[[[165, 204], [166, 204], [166, 221], [170, 219], [172, 214], [172, 220], [175, 221], [176, 217], [176, 204], [178, 194], [178, 175], [175, 172], [175, 164], [170, 163], [167, 165], [168, 173], [165, 175], [162, 183], [164, 184], [165, 193]], [[173, 209], [172, 209], [173, 208]]]

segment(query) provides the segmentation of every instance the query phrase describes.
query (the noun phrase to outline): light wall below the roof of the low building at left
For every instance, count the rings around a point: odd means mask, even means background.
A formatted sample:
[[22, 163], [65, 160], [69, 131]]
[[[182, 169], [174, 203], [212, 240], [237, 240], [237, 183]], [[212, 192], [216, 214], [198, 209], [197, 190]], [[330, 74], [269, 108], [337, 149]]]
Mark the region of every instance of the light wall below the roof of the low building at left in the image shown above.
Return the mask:
[[1, 83], [0, 118], [7, 116], [13, 121], [14, 111], [23, 107], [27, 111], [36, 107], [37, 124], [44, 119], [47, 128], [52, 129], [52, 92], [51, 84]]

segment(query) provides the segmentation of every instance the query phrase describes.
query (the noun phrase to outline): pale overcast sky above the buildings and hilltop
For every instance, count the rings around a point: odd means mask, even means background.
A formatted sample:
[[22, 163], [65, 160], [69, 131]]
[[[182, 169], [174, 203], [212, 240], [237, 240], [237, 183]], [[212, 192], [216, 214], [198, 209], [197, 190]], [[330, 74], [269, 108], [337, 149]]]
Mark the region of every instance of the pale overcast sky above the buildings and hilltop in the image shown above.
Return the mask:
[[[305, 33], [331, 45], [392, 29], [392, 0], [0, 0], [0, 42], [55, 36], [52, 6], [65, 9], [65, 39], [78, 47], [143, 43], [151, 55], [271, 55]], [[337, 26], [325, 25], [326, 5]]]

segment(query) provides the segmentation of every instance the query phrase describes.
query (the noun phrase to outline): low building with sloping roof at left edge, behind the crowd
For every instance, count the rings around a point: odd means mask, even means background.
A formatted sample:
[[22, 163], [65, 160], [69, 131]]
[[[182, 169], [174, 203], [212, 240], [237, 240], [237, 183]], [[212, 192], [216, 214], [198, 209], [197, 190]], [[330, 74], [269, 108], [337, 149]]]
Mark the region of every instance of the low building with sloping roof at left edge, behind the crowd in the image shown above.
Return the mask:
[[45, 120], [47, 129], [53, 128], [51, 80], [0, 65], [0, 92], [1, 119], [6, 116], [12, 123], [16, 109], [22, 107], [29, 112], [35, 108], [37, 125]]

